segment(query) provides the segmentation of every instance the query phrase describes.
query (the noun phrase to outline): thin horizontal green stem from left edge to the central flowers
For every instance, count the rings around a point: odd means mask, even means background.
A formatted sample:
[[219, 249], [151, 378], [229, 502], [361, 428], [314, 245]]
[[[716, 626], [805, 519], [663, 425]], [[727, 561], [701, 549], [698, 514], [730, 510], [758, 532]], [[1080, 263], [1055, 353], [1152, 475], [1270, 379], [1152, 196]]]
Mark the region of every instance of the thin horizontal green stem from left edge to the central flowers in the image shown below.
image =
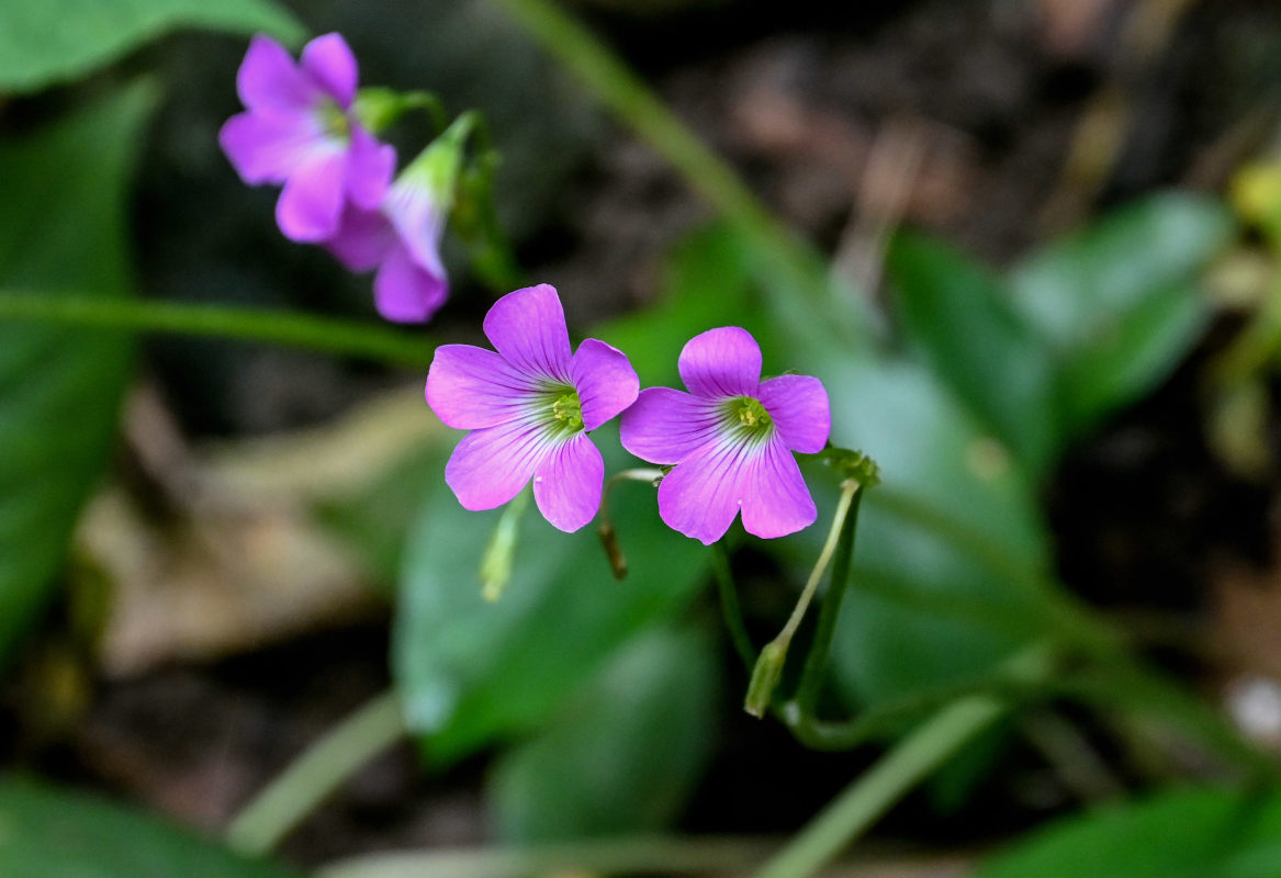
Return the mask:
[[35, 291], [0, 292], [0, 320], [211, 335], [414, 367], [428, 366], [436, 351], [423, 335], [296, 311]]

